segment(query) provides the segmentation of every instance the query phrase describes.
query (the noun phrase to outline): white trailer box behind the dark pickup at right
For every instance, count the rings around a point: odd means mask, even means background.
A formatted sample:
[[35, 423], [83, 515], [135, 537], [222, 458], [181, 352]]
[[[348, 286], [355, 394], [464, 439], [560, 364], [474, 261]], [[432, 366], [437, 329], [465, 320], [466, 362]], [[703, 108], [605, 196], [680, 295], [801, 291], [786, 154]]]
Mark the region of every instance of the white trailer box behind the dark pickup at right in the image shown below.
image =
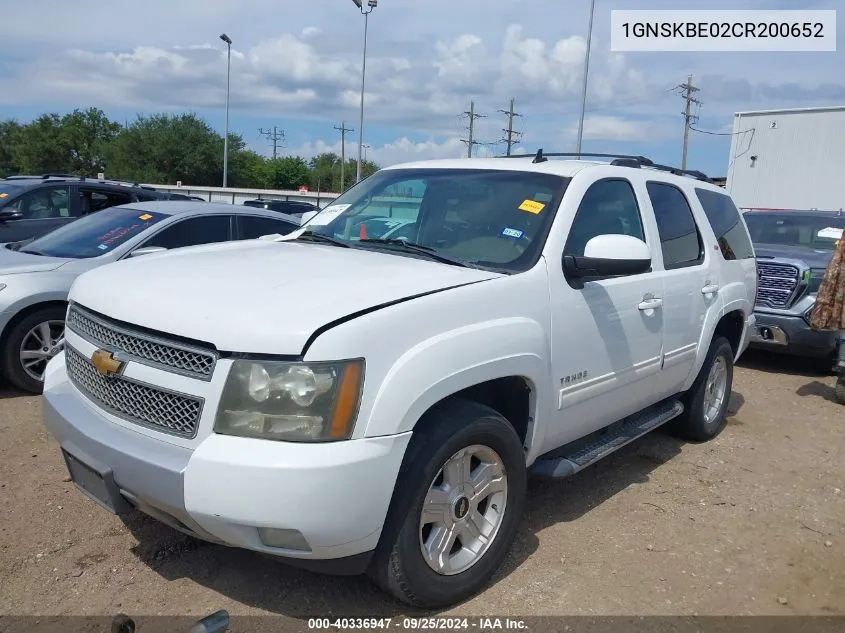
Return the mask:
[[726, 188], [743, 208], [845, 208], [845, 105], [734, 115]]

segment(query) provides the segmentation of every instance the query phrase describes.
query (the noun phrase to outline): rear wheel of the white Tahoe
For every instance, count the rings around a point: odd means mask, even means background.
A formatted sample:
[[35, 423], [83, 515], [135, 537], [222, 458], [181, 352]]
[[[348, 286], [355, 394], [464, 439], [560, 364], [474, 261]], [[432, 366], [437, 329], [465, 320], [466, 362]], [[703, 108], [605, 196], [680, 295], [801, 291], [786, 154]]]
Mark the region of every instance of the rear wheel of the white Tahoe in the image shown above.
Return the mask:
[[684, 413], [669, 423], [669, 430], [686, 440], [705, 442], [725, 428], [733, 385], [734, 352], [728, 340], [717, 336], [710, 343], [701, 372], [682, 399]]

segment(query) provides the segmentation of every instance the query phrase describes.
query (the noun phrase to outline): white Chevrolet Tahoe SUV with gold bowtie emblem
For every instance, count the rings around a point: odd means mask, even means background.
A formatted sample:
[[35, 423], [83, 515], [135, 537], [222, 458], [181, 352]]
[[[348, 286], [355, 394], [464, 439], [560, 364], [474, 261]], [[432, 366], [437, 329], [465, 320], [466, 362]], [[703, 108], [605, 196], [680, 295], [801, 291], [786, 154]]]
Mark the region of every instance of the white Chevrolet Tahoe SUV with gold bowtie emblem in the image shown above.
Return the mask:
[[383, 169], [290, 236], [79, 277], [43, 407], [73, 480], [440, 608], [490, 581], [529, 476], [716, 436], [757, 288], [736, 207], [550, 156]]

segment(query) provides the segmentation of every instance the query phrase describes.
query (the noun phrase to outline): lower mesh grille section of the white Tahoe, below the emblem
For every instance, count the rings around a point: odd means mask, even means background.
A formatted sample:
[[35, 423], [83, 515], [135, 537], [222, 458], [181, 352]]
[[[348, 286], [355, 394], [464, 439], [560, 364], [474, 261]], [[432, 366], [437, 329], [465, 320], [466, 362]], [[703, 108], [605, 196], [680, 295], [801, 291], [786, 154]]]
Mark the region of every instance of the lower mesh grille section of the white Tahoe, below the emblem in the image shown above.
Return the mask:
[[73, 385], [109, 413], [162, 433], [189, 439], [196, 436], [202, 398], [165, 391], [121, 375], [103, 376], [67, 344], [65, 365]]

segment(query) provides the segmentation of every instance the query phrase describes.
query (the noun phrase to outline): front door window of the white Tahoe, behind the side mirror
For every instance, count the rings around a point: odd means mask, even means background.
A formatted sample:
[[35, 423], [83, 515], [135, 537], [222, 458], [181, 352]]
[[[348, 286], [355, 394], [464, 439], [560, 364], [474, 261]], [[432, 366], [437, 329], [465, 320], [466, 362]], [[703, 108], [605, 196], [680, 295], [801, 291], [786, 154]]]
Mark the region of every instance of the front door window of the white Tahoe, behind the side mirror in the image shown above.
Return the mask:
[[645, 241], [640, 208], [627, 180], [600, 180], [587, 189], [569, 230], [564, 253], [583, 256], [598, 235], [630, 235]]

